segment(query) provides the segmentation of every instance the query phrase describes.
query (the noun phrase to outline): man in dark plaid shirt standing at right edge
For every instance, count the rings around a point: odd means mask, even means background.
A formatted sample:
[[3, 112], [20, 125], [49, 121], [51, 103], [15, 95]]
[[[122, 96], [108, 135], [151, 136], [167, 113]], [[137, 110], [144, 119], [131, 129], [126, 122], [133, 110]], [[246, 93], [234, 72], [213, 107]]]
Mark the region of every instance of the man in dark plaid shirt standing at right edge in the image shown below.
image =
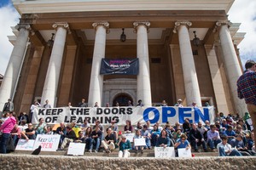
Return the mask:
[[[256, 133], [256, 63], [253, 60], [248, 60], [245, 68], [246, 71], [236, 82], [237, 95], [239, 99], [245, 99], [253, 122], [253, 132]], [[256, 135], [254, 142], [256, 142]]]

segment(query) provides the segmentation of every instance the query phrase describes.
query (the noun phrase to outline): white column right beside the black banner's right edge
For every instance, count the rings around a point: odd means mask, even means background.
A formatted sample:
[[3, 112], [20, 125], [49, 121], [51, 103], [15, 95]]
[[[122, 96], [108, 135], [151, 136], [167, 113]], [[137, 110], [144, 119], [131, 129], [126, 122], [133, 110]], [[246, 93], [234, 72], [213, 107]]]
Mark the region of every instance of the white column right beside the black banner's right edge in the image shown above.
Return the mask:
[[148, 27], [149, 22], [134, 22], [137, 31], [137, 58], [139, 59], [139, 73], [137, 75], [137, 100], [142, 99], [144, 106], [151, 106], [151, 87], [148, 60]]

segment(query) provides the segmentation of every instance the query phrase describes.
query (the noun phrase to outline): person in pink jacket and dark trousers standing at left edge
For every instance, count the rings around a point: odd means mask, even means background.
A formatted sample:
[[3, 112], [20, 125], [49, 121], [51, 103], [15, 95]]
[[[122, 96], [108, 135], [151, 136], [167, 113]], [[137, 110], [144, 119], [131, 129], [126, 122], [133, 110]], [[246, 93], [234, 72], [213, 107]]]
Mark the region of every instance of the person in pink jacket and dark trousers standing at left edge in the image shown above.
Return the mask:
[[15, 127], [15, 124], [16, 124], [15, 112], [13, 112], [9, 114], [9, 119], [3, 122], [2, 126], [0, 127], [0, 131], [3, 132], [1, 142], [0, 142], [0, 153], [6, 154], [7, 143], [11, 135], [11, 131]]

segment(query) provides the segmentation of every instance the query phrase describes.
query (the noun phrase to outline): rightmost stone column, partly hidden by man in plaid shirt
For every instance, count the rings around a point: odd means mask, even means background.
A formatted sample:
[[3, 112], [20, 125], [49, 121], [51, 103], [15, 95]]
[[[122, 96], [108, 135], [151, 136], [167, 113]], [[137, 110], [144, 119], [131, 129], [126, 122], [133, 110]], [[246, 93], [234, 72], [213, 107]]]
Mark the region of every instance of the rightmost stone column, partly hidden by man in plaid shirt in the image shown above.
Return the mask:
[[239, 99], [237, 97], [237, 87], [236, 81], [241, 76], [241, 66], [239, 64], [238, 58], [236, 56], [236, 50], [232, 38], [230, 36], [230, 22], [228, 21], [218, 21], [216, 22], [216, 27], [219, 27], [218, 33], [220, 38], [221, 47], [223, 50], [223, 59], [225, 71], [227, 73], [229, 85], [230, 85], [230, 94], [234, 101], [234, 106], [236, 113], [244, 115], [247, 111], [247, 106], [245, 105], [244, 99]]

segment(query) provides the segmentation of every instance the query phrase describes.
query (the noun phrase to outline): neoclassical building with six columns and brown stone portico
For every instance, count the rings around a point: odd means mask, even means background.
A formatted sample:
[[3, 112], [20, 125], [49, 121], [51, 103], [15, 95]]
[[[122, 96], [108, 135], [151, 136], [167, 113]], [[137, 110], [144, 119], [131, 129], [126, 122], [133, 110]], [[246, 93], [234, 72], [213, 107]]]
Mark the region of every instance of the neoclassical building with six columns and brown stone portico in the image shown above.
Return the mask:
[[[0, 89], [0, 106], [15, 111], [33, 100], [55, 107], [214, 105], [240, 113], [236, 97], [242, 73], [237, 44], [244, 33], [231, 23], [234, 0], [13, 0], [20, 23]], [[122, 38], [120, 36], [123, 34]], [[124, 37], [125, 34], [125, 37]], [[138, 59], [137, 75], [101, 75], [102, 59]]]

